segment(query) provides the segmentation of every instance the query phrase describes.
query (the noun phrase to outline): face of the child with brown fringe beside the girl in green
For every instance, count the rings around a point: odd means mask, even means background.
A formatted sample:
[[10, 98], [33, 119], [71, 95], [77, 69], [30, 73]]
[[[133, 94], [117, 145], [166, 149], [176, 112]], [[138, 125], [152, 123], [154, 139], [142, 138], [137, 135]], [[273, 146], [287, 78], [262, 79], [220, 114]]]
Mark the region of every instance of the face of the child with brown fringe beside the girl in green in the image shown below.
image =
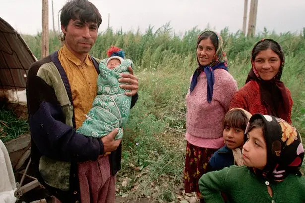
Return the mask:
[[242, 147], [244, 144], [244, 131], [240, 128], [225, 126], [222, 131], [224, 141], [229, 149]]

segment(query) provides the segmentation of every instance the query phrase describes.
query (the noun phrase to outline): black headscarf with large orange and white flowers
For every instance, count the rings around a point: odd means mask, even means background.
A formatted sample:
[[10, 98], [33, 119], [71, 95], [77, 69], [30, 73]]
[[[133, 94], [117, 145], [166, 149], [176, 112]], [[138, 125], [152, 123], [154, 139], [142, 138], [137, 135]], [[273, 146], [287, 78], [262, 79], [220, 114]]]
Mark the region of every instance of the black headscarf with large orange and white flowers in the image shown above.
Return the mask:
[[[299, 132], [281, 118], [270, 115], [254, 114], [249, 123], [261, 118], [264, 124], [264, 137], [267, 146], [267, 165], [256, 175], [268, 181], [283, 181], [289, 174], [301, 176], [301, 165], [304, 158], [304, 148]], [[248, 133], [248, 127], [246, 133]]]

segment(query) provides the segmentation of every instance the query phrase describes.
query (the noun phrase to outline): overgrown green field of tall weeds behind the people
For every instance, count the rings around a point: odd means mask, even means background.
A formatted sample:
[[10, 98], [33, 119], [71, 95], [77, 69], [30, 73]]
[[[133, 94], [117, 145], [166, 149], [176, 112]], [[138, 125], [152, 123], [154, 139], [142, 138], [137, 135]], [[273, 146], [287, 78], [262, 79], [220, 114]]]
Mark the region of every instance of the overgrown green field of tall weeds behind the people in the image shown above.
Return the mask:
[[[110, 45], [121, 47], [135, 63], [139, 78], [139, 100], [131, 110], [122, 141], [122, 169], [118, 174], [118, 196], [148, 197], [159, 202], [182, 200], [183, 165], [186, 142], [185, 95], [189, 78], [197, 67], [196, 39], [201, 30], [193, 28], [183, 35], [169, 24], [145, 33], [106, 30], [99, 34], [91, 54], [104, 58]], [[294, 100], [293, 125], [305, 139], [305, 29], [302, 33], [272, 33], [266, 29], [255, 37], [241, 32], [221, 31], [229, 72], [245, 83], [250, 70], [250, 53], [262, 38], [273, 38], [283, 47], [285, 67], [282, 81]], [[41, 33], [23, 35], [31, 51], [40, 58]], [[56, 33], [50, 33], [50, 53], [61, 46]]]

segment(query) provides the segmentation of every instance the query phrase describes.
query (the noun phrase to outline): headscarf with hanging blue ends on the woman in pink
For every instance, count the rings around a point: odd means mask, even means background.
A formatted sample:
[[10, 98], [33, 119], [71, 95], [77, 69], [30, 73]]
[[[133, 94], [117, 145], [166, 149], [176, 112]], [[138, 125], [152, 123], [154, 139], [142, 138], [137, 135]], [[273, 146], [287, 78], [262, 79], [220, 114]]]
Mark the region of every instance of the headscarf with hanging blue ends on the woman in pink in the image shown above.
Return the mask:
[[193, 78], [190, 83], [190, 93], [194, 90], [195, 86], [197, 85], [197, 80], [198, 80], [200, 73], [202, 71], [204, 71], [204, 73], [206, 75], [206, 79], [207, 79], [207, 101], [209, 103], [211, 103], [212, 97], [213, 97], [214, 82], [215, 82], [214, 70], [220, 68], [220, 69], [224, 69], [224, 70], [228, 71], [228, 65], [227, 65], [226, 54], [225, 54], [225, 52], [223, 52], [223, 40], [219, 34], [213, 32], [213, 31], [210, 31], [210, 30], [201, 33], [198, 36], [197, 48], [198, 48], [198, 45], [201, 42], [201, 40], [203, 40], [203, 38], [204, 38], [203, 34], [206, 32], [212, 32], [217, 36], [218, 46], [216, 47], [216, 52], [215, 52], [214, 58], [212, 59], [212, 61], [209, 65], [206, 65], [206, 66], [200, 65], [199, 59], [197, 57], [197, 62], [198, 62], [199, 67], [195, 70], [195, 72], [193, 74]]

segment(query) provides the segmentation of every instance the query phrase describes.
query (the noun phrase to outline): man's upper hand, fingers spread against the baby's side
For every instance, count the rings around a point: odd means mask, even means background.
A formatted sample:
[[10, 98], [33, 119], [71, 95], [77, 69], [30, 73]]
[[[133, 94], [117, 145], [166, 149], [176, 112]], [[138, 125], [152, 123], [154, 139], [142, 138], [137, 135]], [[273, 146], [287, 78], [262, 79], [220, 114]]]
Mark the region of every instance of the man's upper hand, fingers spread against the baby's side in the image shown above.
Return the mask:
[[120, 83], [129, 83], [129, 84], [122, 84], [119, 87], [125, 90], [131, 90], [131, 92], [125, 92], [127, 96], [133, 96], [138, 92], [139, 88], [139, 80], [136, 76], [133, 75], [133, 70], [131, 66], [128, 67], [130, 74], [128, 73], [121, 73], [120, 75], [122, 78], [118, 79]]

